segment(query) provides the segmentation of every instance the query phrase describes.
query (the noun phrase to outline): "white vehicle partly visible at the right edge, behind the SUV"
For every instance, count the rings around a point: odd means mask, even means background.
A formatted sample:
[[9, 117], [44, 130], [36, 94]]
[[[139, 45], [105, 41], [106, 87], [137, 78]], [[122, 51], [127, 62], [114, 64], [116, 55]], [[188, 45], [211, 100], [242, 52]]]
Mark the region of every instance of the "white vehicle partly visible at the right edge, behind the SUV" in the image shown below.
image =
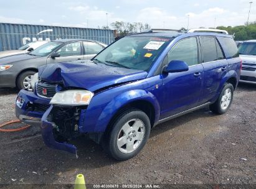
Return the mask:
[[239, 47], [242, 59], [240, 82], [256, 84], [256, 40], [247, 40]]

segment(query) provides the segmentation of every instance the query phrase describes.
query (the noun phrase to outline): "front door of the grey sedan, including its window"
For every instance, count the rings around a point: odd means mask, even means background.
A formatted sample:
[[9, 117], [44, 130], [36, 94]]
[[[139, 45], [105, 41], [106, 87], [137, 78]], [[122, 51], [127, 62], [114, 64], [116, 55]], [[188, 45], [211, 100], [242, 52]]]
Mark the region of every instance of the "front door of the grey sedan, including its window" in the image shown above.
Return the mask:
[[60, 57], [52, 58], [49, 56], [47, 58], [47, 63], [71, 62], [74, 60], [83, 60], [81, 42], [67, 43], [56, 52], [60, 54]]

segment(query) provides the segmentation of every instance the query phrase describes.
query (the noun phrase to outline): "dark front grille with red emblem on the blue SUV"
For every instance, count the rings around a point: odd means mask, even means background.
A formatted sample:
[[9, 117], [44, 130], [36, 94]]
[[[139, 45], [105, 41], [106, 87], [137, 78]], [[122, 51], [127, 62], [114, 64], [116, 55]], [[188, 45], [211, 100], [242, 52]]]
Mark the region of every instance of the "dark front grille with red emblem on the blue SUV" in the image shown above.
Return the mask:
[[[40, 82], [37, 83], [37, 94], [45, 98], [52, 98], [56, 93], [56, 84]], [[46, 94], [44, 93], [46, 91]]]

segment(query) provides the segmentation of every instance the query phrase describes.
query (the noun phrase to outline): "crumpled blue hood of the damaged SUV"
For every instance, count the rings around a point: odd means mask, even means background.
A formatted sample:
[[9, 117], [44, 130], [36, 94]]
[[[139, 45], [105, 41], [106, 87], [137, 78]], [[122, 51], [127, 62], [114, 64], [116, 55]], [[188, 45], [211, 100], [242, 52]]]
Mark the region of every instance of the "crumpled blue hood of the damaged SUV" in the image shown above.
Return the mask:
[[89, 91], [99, 90], [110, 85], [146, 78], [148, 73], [111, 67], [92, 61], [83, 63], [53, 63], [39, 67], [39, 80], [50, 83], [64, 83], [65, 87], [73, 86]]

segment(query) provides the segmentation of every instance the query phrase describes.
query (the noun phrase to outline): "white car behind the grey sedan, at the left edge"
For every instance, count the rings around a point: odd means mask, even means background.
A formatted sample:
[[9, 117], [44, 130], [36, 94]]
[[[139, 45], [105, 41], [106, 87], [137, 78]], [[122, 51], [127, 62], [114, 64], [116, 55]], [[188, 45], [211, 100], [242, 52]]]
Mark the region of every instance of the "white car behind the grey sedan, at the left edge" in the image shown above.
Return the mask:
[[39, 40], [39, 41], [34, 41], [34, 42], [30, 42], [26, 45], [23, 45], [22, 47], [20, 47], [18, 50], [4, 50], [0, 52], [0, 58], [3, 57], [9, 57], [12, 55], [21, 55], [24, 53], [29, 53], [33, 50], [35, 50], [36, 48], [40, 47], [41, 45], [46, 44], [48, 41], [47, 40]]

